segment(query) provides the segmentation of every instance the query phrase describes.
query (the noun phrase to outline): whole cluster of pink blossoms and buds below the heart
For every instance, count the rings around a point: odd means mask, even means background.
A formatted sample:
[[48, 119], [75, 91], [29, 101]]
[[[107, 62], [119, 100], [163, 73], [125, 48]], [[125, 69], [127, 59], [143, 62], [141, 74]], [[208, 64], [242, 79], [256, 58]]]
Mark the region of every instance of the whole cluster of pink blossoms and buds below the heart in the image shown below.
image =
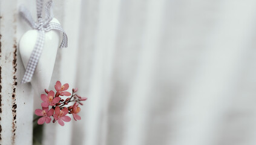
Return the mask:
[[[72, 89], [72, 94], [67, 91], [69, 88], [68, 83], [61, 85], [61, 82], [57, 81], [54, 86], [54, 91], [48, 91], [45, 89], [46, 94], [41, 95], [42, 109], [36, 109], [34, 114], [38, 115], [38, 124], [50, 123], [51, 117], [53, 117], [53, 123], [56, 121], [64, 126], [64, 121], [69, 122], [71, 118], [67, 114], [72, 114], [74, 120], [81, 120], [81, 117], [77, 115], [80, 112], [79, 105], [83, 105], [80, 101], [87, 100], [86, 97], [80, 97], [75, 94], [77, 88]], [[65, 96], [70, 96], [64, 99]], [[73, 105], [68, 106], [69, 103], [74, 102]], [[49, 109], [50, 107], [50, 109]]]

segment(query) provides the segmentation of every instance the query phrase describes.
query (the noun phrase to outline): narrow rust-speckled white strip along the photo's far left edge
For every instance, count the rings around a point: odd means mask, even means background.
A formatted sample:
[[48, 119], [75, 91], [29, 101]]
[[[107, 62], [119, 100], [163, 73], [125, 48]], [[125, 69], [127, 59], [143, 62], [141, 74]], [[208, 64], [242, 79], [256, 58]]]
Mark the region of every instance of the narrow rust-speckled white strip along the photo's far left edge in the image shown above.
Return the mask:
[[12, 3], [16, 0], [1, 1], [0, 144], [16, 144], [17, 10], [15, 6], [11, 7]]

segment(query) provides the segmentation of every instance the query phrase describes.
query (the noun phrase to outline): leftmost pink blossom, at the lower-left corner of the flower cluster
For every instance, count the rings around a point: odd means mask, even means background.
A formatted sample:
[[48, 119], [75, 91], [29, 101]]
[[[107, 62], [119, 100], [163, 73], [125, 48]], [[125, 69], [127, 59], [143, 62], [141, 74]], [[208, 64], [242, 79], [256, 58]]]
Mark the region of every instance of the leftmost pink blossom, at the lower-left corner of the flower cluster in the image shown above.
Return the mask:
[[36, 109], [34, 111], [34, 114], [38, 115], [38, 116], [42, 116], [41, 118], [39, 118], [38, 120], [38, 124], [44, 124], [44, 123], [50, 123], [51, 118], [50, 116], [53, 115], [54, 110], [50, 109], [48, 111], [49, 108], [42, 108], [41, 109]]

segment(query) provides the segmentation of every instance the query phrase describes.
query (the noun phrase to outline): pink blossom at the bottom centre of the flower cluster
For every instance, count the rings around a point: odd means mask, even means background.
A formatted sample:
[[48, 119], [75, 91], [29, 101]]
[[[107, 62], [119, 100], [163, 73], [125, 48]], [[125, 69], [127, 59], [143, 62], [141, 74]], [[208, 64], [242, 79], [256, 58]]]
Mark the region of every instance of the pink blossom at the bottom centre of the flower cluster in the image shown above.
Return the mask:
[[71, 120], [70, 117], [66, 116], [68, 114], [68, 109], [67, 108], [63, 108], [62, 110], [59, 108], [59, 106], [57, 106], [55, 108], [55, 114], [53, 115], [54, 119], [57, 120], [57, 122], [59, 124], [61, 124], [61, 126], [64, 126], [64, 122], [69, 122]]

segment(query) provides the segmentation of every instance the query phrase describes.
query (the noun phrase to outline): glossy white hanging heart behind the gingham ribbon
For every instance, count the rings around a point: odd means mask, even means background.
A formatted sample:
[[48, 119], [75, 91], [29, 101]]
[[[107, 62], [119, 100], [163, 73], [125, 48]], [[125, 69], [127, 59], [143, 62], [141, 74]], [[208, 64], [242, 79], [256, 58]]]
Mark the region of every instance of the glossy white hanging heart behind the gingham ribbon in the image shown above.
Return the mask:
[[[55, 18], [51, 22], [59, 24], [59, 21]], [[28, 30], [19, 41], [19, 53], [25, 68], [36, 44], [37, 37], [38, 30]], [[59, 39], [59, 31], [50, 30], [45, 32], [44, 48], [31, 80], [34, 93], [37, 95], [42, 94], [44, 89], [48, 89], [50, 85], [57, 49], [59, 48]]]

